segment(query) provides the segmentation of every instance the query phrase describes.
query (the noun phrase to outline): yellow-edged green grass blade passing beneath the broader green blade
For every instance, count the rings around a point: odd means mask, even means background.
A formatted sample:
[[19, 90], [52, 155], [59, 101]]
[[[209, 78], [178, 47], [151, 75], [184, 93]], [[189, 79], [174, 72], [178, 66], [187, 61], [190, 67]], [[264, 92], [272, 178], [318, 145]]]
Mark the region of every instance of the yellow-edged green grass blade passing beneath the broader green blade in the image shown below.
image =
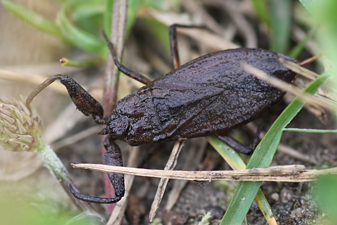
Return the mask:
[[[206, 139], [233, 169], [242, 170], [246, 168], [246, 164], [239, 154], [226, 143], [215, 136], [208, 136]], [[258, 190], [255, 196], [255, 202], [265, 216], [268, 224], [277, 224], [276, 217], [261, 189]]]

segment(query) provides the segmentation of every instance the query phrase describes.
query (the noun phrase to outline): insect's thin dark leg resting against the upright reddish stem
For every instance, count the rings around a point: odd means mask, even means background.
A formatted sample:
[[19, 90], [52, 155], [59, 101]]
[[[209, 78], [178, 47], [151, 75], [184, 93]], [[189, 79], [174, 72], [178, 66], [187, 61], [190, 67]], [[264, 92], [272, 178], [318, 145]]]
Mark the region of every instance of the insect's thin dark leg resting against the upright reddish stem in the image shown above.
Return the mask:
[[148, 84], [150, 83], [150, 80], [145, 77], [143, 74], [138, 73], [138, 72], [134, 72], [131, 69], [126, 68], [125, 66], [123, 66], [122, 64], [119, 63], [117, 55], [116, 55], [116, 51], [114, 49], [114, 45], [111, 43], [111, 41], [108, 39], [108, 37], [106, 36], [106, 34], [103, 32], [103, 36], [106, 40], [106, 42], [108, 43], [108, 47], [109, 47], [109, 51], [111, 53], [112, 59], [115, 62], [115, 65], [117, 66], [118, 70], [120, 72], [122, 72], [123, 74], [135, 79], [136, 81], [139, 81], [143, 84]]

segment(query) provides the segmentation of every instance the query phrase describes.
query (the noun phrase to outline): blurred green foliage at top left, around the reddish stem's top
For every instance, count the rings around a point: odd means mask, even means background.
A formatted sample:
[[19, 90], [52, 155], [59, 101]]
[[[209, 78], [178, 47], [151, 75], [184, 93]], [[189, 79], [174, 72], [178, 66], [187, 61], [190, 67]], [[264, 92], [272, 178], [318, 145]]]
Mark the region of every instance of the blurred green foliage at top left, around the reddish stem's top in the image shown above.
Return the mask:
[[[129, 34], [135, 22], [141, 1], [129, 0], [126, 33]], [[32, 27], [60, 39], [71, 47], [106, 58], [108, 48], [101, 38], [104, 30], [111, 33], [112, 0], [82, 1], [64, 0], [61, 2], [56, 21], [10, 0], [3, 0], [3, 6], [19, 19]], [[108, 10], [109, 9], [109, 10]]]

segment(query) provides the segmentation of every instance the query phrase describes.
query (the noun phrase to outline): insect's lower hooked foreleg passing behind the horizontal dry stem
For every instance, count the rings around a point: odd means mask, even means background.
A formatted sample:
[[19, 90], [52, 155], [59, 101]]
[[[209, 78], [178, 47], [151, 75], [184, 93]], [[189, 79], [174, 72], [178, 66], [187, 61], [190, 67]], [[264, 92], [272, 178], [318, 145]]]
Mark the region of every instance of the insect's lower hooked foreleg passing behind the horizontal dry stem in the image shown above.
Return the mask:
[[[123, 166], [122, 153], [118, 145], [114, 142], [111, 135], [108, 135], [104, 140], [104, 147], [106, 153], [104, 154], [104, 163], [109, 166]], [[92, 203], [116, 203], [124, 196], [124, 175], [121, 173], [108, 173], [109, 179], [115, 188], [115, 198], [98, 198], [89, 195], [83, 195], [75, 192], [71, 185], [69, 185], [70, 191], [75, 198]]]

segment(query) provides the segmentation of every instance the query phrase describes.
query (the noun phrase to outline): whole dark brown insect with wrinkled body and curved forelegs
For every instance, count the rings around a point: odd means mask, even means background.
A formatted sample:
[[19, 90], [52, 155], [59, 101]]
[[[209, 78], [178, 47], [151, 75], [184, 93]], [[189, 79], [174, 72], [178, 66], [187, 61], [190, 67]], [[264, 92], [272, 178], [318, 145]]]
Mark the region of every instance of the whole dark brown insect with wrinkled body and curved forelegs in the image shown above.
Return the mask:
[[[260, 116], [281, 99], [284, 91], [245, 72], [240, 62], [246, 62], [288, 83], [295, 79], [296, 74], [278, 61], [280, 57], [295, 62], [294, 59], [263, 49], [219, 51], [179, 66], [177, 26], [170, 27], [173, 62], [177, 68], [152, 82], [121, 65], [112, 44], [106, 39], [119, 70], [146, 84], [119, 100], [112, 114], [103, 117], [102, 106], [67, 75], [55, 75], [43, 82], [29, 95], [26, 105], [42, 89], [59, 79], [82, 113], [87, 116], [91, 114], [99, 124], [107, 124], [100, 132], [102, 135], [108, 134], [104, 140], [107, 150], [105, 164], [122, 166], [121, 152], [115, 140], [136, 146], [223, 134]], [[232, 139], [222, 139], [232, 142]], [[250, 153], [245, 149], [242, 151]], [[115, 203], [124, 196], [124, 178], [118, 173], [108, 175], [116, 198], [83, 195], [69, 186], [70, 190], [76, 198], [84, 201]]]

